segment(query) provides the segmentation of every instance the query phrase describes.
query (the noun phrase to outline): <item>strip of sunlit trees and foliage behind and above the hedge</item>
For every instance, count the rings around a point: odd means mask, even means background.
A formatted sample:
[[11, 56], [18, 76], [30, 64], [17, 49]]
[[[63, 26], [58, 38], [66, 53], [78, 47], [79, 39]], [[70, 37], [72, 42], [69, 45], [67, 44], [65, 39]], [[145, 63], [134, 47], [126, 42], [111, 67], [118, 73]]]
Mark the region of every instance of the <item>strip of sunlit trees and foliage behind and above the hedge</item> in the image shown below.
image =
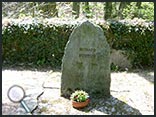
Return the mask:
[[2, 2], [2, 17], [154, 21], [154, 2]]

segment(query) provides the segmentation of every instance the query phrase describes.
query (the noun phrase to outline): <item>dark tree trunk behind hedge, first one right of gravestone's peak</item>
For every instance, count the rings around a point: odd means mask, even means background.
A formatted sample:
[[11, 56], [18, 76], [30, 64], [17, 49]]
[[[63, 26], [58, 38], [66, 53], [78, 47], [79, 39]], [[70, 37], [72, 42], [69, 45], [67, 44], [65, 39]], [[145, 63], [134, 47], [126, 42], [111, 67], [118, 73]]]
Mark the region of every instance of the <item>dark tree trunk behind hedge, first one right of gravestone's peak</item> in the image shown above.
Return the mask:
[[106, 2], [104, 7], [104, 19], [110, 19], [112, 14], [112, 2]]

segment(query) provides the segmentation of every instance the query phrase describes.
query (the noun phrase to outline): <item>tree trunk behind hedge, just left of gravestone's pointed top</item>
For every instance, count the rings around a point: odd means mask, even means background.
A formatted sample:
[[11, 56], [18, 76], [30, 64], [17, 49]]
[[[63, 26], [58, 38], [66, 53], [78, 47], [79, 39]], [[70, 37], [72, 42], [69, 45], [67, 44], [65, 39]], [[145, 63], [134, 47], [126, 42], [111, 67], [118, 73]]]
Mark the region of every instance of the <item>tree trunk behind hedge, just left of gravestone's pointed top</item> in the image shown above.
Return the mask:
[[78, 18], [80, 14], [80, 2], [73, 2], [72, 15], [74, 18]]

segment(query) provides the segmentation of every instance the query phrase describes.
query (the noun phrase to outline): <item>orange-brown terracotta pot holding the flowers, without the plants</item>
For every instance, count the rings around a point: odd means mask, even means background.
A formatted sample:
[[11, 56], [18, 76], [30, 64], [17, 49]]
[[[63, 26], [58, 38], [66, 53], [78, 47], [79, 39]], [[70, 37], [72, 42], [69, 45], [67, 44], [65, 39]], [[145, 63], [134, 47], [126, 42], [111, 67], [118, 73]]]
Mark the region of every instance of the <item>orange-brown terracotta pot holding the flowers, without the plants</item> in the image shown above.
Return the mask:
[[84, 108], [88, 105], [89, 102], [90, 102], [90, 99], [87, 99], [85, 102], [72, 101], [72, 105], [74, 108]]

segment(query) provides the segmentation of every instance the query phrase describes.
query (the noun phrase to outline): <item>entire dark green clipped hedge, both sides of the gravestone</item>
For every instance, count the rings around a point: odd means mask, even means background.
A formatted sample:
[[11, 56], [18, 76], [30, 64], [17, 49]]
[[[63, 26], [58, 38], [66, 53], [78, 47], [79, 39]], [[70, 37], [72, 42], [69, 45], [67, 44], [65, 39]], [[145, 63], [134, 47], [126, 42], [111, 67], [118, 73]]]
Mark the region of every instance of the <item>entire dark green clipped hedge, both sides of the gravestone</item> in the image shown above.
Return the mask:
[[[69, 35], [78, 22], [31, 20], [9, 22], [2, 28], [3, 65], [61, 66]], [[125, 50], [134, 67], [154, 65], [153, 23], [98, 22], [111, 48]]]

